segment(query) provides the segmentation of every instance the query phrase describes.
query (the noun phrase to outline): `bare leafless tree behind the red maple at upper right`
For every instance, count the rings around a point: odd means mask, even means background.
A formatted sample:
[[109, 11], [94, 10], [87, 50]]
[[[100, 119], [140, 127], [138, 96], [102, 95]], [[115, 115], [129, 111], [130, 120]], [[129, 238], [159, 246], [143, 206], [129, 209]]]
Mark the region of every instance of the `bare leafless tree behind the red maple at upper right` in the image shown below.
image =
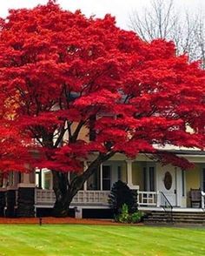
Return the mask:
[[190, 61], [201, 59], [205, 68], [205, 26], [201, 12], [177, 12], [173, 0], [153, 0], [142, 14], [134, 11], [129, 20], [130, 28], [143, 40], [173, 40], [178, 55], [188, 53]]

